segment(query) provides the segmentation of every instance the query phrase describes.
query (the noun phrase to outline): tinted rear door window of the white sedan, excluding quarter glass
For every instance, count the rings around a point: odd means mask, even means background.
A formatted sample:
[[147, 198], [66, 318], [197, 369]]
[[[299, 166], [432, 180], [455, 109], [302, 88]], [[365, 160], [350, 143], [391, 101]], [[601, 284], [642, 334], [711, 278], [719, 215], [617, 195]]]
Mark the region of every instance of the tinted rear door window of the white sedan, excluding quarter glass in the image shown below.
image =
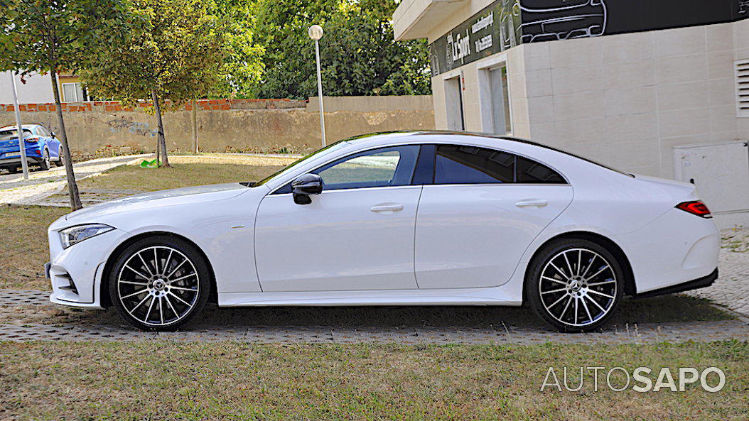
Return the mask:
[[436, 184], [515, 181], [515, 156], [481, 147], [439, 145], [434, 161]]

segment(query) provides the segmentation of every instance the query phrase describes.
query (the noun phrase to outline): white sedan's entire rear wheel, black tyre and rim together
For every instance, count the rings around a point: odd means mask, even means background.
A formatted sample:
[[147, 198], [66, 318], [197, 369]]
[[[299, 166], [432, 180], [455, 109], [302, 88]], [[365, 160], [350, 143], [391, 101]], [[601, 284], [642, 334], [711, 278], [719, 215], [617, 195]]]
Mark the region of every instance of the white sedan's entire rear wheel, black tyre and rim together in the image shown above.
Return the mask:
[[622, 264], [606, 248], [585, 239], [545, 245], [530, 262], [525, 280], [527, 303], [562, 332], [600, 328], [619, 307], [623, 292]]

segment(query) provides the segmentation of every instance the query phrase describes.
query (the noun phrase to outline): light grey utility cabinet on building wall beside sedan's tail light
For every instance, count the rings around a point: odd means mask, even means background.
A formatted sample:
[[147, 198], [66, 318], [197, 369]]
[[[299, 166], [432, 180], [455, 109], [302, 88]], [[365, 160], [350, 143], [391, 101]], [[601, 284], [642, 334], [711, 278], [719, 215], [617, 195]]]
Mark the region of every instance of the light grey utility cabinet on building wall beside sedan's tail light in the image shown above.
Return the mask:
[[693, 182], [720, 228], [749, 226], [749, 142], [673, 147], [676, 179]]

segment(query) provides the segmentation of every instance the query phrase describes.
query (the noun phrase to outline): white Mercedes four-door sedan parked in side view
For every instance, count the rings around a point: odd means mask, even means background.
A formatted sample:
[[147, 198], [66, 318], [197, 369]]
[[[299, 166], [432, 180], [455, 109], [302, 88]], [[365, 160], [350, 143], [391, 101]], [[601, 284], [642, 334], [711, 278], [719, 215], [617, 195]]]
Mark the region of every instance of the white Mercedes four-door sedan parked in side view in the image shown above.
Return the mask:
[[[240, 173], [237, 168], [237, 173]], [[531, 307], [599, 328], [625, 296], [710, 285], [719, 236], [694, 185], [530, 141], [391, 132], [260, 182], [140, 194], [49, 227], [53, 303], [174, 330], [233, 306]]]

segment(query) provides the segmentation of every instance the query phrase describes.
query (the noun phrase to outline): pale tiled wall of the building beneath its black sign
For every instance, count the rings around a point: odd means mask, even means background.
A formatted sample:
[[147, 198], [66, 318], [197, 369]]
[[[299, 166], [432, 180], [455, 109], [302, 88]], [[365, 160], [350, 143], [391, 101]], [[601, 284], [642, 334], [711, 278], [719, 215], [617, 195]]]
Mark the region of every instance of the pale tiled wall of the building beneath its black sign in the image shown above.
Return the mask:
[[749, 118], [736, 117], [733, 73], [734, 61], [747, 58], [749, 19], [523, 44], [434, 76], [435, 125], [448, 127], [444, 80], [462, 74], [466, 129], [488, 131], [478, 75], [505, 61], [512, 135], [671, 178], [674, 146], [749, 139]]

